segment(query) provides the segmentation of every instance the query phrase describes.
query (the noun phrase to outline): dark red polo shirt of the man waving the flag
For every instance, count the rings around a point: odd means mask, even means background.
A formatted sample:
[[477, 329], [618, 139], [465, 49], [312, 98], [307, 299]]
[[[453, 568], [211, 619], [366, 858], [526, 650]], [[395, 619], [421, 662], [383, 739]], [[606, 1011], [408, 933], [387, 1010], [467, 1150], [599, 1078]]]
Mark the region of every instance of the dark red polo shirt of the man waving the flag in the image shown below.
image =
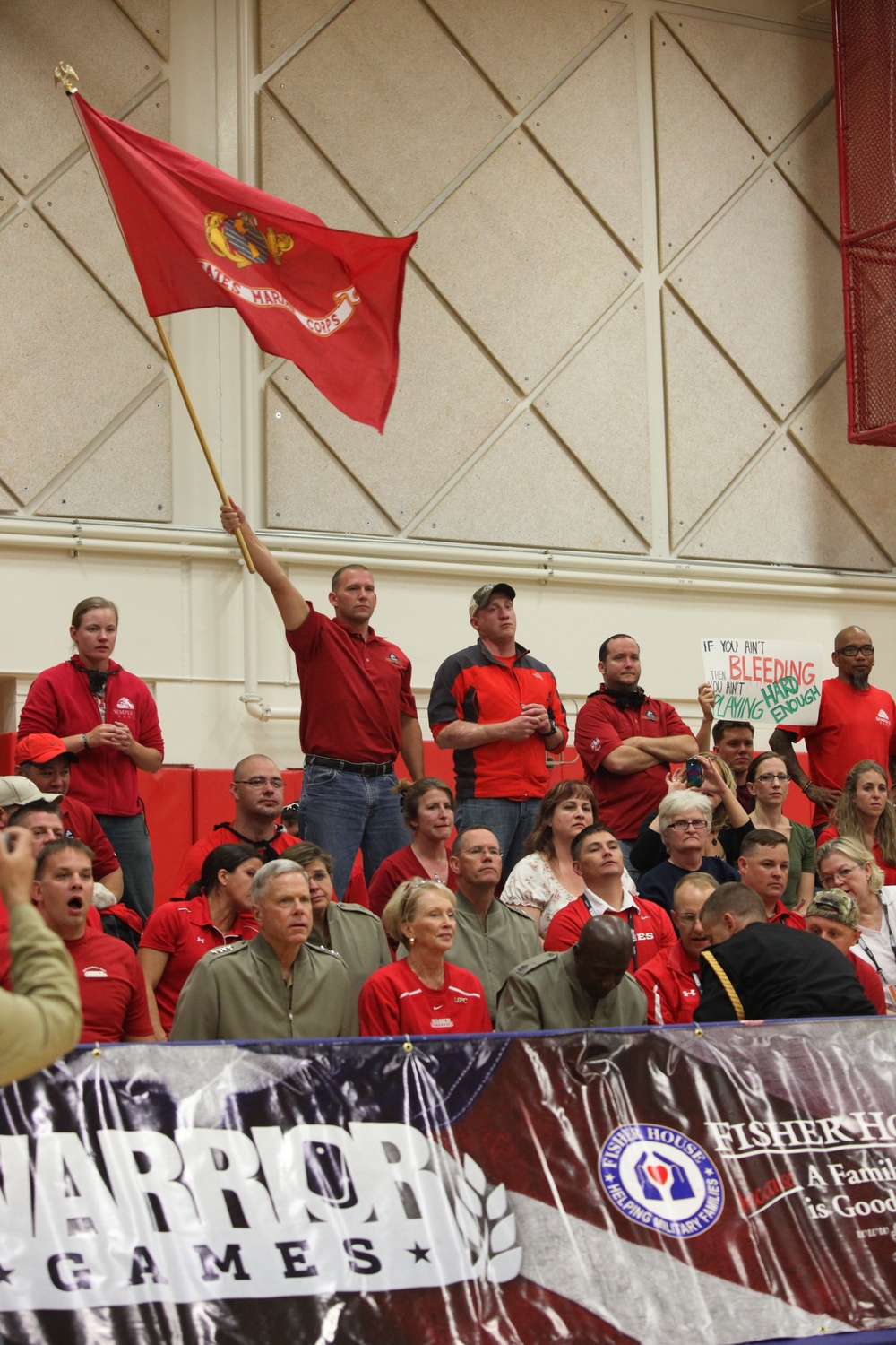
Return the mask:
[[402, 749], [402, 714], [416, 718], [410, 659], [372, 629], [364, 640], [308, 605], [305, 621], [286, 632], [302, 689], [302, 752], [394, 760]]

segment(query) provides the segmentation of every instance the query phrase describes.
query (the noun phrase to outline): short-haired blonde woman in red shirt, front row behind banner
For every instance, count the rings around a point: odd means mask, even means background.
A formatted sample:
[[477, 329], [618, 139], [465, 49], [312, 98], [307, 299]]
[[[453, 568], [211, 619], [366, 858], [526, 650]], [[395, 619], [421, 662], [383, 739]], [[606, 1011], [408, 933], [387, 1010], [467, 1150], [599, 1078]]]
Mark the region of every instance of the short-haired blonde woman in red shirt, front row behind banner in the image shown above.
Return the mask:
[[357, 1002], [363, 1037], [492, 1032], [482, 983], [445, 960], [454, 908], [454, 893], [433, 878], [410, 878], [395, 889], [383, 924], [407, 956], [365, 981]]

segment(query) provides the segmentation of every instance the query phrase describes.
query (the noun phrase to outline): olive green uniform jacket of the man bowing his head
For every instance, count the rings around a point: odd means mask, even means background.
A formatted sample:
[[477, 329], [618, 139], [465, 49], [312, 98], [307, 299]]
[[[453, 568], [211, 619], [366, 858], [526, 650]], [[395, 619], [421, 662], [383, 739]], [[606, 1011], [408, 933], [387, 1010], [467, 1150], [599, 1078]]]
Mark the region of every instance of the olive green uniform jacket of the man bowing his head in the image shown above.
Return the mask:
[[[528, 917], [527, 917], [528, 919]], [[639, 1028], [647, 1021], [647, 997], [627, 971], [596, 1003], [582, 989], [575, 948], [543, 952], [513, 971], [501, 991], [497, 1032], [563, 1028]]]

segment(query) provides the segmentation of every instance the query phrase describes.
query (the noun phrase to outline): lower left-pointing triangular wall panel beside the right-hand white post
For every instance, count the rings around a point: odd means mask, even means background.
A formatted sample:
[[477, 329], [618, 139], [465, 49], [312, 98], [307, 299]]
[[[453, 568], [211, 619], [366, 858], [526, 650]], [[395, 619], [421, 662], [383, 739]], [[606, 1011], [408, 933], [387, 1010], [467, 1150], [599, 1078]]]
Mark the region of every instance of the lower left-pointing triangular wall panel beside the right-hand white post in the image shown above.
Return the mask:
[[629, 525], [650, 541], [647, 350], [641, 289], [535, 405]]

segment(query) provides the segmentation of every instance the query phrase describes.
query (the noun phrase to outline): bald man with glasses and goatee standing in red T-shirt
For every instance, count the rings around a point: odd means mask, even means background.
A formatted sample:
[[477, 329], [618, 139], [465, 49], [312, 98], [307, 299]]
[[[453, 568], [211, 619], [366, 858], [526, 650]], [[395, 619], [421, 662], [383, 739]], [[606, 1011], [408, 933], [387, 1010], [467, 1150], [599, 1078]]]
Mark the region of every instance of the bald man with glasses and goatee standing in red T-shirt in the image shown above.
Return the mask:
[[[889, 691], [870, 685], [875, 646], [861, 625], [848, 625], [834, 639], [832, 655], [836, 678], [821, 685], [818, 722], [790, 728], [780, 725], [770, 738], [770, 748], [787, 763], [787, 773], [814, 803], [813, 830], [818, 835], [830, 815], [856, 761], [877, 761], [889, 771], [896, 768], [896, 702]], [[794, 742], [803, 738], [809, 753], [809, 775], [794, 752]]]

